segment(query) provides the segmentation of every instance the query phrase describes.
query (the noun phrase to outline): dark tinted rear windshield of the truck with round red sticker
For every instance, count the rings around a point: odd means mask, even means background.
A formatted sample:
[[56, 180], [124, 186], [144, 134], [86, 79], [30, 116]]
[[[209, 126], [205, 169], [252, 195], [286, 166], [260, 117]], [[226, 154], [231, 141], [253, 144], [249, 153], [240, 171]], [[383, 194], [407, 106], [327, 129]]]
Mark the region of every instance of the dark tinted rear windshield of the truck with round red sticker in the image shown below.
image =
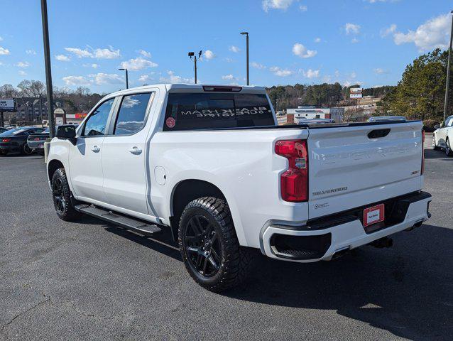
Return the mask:
[[168, 94], [164, 131], [275, 125], [266, 94]]

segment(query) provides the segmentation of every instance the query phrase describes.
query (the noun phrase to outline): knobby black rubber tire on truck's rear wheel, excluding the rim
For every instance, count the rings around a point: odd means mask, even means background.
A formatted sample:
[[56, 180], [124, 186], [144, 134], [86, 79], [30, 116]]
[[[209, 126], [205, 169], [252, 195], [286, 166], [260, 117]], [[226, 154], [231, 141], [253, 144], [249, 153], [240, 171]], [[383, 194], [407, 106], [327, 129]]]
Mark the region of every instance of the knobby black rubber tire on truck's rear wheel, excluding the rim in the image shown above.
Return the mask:
[[[203, 217], [207, 220], [207, 224], [212, 224], [212, 231], [215, 231], [219, 240], [217, 245], [220, 245], [222, 249], [217, 273], [214, 272], [209, 277], [204, 276], [202, 272], [195, 269], [196, 265], [193, 259], [190, 258], [190, 255], [192, 257], [194, 255], [187, 251], [188, 244], [190, 244], [186, 240], [190, 238], [187, 237], [187, 229], [192, 228], [190, 227], [190, 221], [192, 220], [193, 222], [194, 217]], [[180, 217], [178, 242], [182, 261], [184, 261], [190, 276], [200, 286], [209, 291], [219, 292], [237, 286], [244, 281], [249, 272], [252, 253], [249, 249], [240, 247], [228, 204], [223, 199], [200, 197], [189, 202]], [[212, 268], [214, 269], [214, 266]]]

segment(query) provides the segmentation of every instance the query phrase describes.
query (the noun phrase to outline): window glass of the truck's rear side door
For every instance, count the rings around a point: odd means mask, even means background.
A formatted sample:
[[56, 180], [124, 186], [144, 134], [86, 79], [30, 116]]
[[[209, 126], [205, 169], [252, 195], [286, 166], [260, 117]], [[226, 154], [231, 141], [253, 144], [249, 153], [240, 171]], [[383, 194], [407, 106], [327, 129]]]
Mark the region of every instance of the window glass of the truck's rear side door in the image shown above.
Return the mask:
[[131, 135], [143, 128], [150, 97], [151, 93], [123, 97], [116, 117], [114, 135]]

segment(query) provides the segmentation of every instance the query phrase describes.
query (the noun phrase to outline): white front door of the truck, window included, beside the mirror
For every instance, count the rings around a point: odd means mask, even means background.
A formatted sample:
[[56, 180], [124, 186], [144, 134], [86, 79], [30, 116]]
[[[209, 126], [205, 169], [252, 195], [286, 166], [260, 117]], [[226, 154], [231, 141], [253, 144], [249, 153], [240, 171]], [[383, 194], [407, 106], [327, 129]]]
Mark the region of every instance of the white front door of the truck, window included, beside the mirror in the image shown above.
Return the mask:
[[102, 183], [102, 142], [113, 112], [114, 98], [92, 110], [77, 136], [77, 143], [70, 147], [69, 166], [72, 188], [77, 197], [87, 201], [105, 202]]

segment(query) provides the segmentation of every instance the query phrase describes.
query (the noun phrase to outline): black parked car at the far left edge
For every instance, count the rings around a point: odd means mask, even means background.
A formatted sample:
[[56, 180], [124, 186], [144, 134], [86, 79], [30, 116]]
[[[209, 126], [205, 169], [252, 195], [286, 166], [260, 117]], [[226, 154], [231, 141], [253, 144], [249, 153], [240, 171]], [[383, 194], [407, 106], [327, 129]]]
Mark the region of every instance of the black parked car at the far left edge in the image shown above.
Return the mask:
[[30, 155], [33, 151], [27, 144], [28, 135], [42, 131], [44, 131], [43, 128], [37, 128], [36, 126], [23, 126], [1, 133], [0, 154], [21, 153], [23, 155]]

